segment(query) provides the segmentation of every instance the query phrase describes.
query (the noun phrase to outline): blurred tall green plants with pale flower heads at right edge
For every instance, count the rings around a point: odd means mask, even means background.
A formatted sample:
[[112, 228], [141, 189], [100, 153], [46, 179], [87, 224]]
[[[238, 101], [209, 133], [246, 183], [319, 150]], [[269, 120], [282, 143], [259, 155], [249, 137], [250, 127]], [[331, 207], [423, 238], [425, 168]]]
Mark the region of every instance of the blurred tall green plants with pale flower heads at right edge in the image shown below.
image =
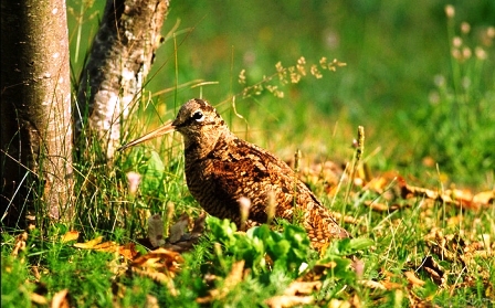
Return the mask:
[[482, 41], [495, 36], [495, 30], [472, 33], [468, 23], [459, 25], [453, 18], [447, 25], [451, 70], [434, 77], [430, 104], [417, 111], [422, 128], [417, 155], [432, 157], [454, 181], [476, 184], [495, 170], [488, 146], [495, 140], [495, 73], [487, 59], [495, 53]]

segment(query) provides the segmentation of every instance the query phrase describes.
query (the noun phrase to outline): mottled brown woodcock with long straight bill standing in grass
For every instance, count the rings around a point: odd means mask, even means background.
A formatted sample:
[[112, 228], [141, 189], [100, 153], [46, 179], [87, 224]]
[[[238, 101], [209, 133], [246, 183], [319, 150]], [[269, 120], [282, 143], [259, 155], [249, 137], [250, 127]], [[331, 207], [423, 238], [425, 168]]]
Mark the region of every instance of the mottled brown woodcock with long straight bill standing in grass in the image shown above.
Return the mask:
[[183, 136], [188, 188], [209, 214], [230, 219], [240, 227], [240, 200], [247, 198], [251, 202], [249, 225], [265, 223], [272, 202], [275, 217], [289, 222], [296, 209], [299, 210], [299, 221], [315, 248], [333, 238], [349, 236], [284, 161], [239, 139], [217, 110], [202, 99], [189, 100], [173, 121], [120, 150], [173, 130]]

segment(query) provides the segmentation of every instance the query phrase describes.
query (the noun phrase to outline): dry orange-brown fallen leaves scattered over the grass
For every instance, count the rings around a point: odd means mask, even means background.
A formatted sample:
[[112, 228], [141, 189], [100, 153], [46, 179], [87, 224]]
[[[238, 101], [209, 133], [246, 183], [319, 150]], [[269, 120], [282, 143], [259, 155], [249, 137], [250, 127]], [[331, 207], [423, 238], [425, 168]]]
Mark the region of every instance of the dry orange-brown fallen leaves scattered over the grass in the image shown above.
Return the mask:
[[[336, 174], [337, 172], [337, 174]], [[358, 172], [359, 174], [359, 172]], [[365, 173], [361, 173], [365, 174]], [[330, 198], [338, 191], [338, 179], [345, 177], [335, 163], [315, 164], [313, 168], [303, 169], [301, 177], [307, 183], [324, 182], [324, 191]], [[349, 180], [350, 178], [347, 178]], [[453, 206], [462, 211], [474, 211], [483, 213], [485, 210], [493, 208], [494, 191], [484, 191], [472, 193], [468, 190], [451, 189], [439, 190], [411, 185], [408, 181], [397, 172], [386, 172], [381, 177], [366, 179], [355, 177], [354, 197], [358, 193], [371, 192], [368, 199], [362, 199], [360, 205], [370, 209], [377, 213], [391, 213], [414, 206], [414, 204], [424, 204], [421, 206], [421, 215], [428, 222], [431, 216], [431, 209], [436, 204]], [[375, 197], [373, 197], [375, 195]], [[379, 198], [377, 198], [378, 195]], [[382, 201], [379, 201], [383, 200]], [[462, 213], [462, 212], [461, 212]], [[361, 217], [338, 216], [348, 224], [361, 224]], [[179, 290], [175, 287], [175, 278], [181, 270], [185, 259], [183, 253], [193, 249], [200, 237], [206, 232], [206, 213], [201, 213], [196, 220], [183, 213], [180, 217], [164, 232], [164, 220], [160, 215], [151, 215], [148, 219], [148, 238], [136, 238], [138, 243], [144, 243], [149, 251], [145, 254], [136, 249], [136, 243], [118, 244], [113, 241], [104, 242], [103, 236], [97, 236], [84, 243], [74, 243], [73, 246], [80, 249], [92, 249], [95, 252], [112, 253], [118, 256], [109, 266], [114, 267], [113, 272], [117, 276], [122, 275], [140, 275], [149, 277], [159, 284], [164, 284], [172, 296], [177, 296]], [[446, 220], [447, 226], [460, 226], [464, 222], [464, 216], [450, 216]], [[454, 229], [449, 229], [454, 230]], [[240, 236], [246, 236], [244, 232], [238, 232]], [[168, 235], [165, 238], [165, 235]], [[334, 273], [335, 268], [350, 268], [356, 276], [358, 284], [365, 288], [369, 288], [375, 293], [383, 294], [385, 291], [396, 291], [397, 296], [407, 297], [413, 307], [428, 306], [432, 297], [422, 297], [418, 295], [418, 290], [428, 285], [425, 278], [438, 285], [440, 289], [453, 293], [456, 288], [474, 287], [477, 277], [482, 278], [487, 298], [494, 298], [493, 282], [489, 282], [491, 274], [487, 268], [482, 268], [475, 261], [478, 258], [493, 259], [495, 257], [495, 242], [491, 237], [493, 234], [477, 234], [475, 230], [459, 229], [457, 231], [445, 231], [439, 226], [432, 226], [429, 234], [425, 234], [423, 241], [425, 243], [426, 255], [424, 255], [420, 266], [412, 264], [406, 266], [402, 275], [398, 273], [389, 273], [382, 269], [381, 279], [362, 279], [366, 264], [359, 258], [349, 256], [348, 262], [343, 259], [323, 258], [320, 262], [313, 264], [307, 270], [303, 270], [301, 275], [282, 291], [265, 300], [268, 307], [294, 307], [302, 305], [319, 305], [320, 299], [315, 297], [322, 291], [325, 279]], [[62, 243], [75, 242], [80, 237], [77, 231], [69, 231], [61, 236]], [[22, 233], [15, 238], [14, 248], [11, 255], [17, 256], [25, 249], [28, 233]], [[273, 265], [273, 259], [265, 256], [267, 263]], [[345, 259], [345, 258], [344, 258]], [[449, 268], [445, 268], [447, 265]], [[307, 265], [306, 265], [307, 267]], [[459, 268], [463, 268], [459, 273]], [[246, 267], [243, 259], [232, 264], [231, 270], [225, 277], [211, 276], [217, 280], [215, 287], [211, 288], [207, 295], [197, 298], [197, 302], [201, 305], [221, 301], [232, 291], [236, 285], [241, 284], [249, 275], [251, 268]], [[421, 274], [421, 277], [419, 274]], [[334, 273], [335, 274], [335, 273]], [[333, 275], [333, 274], [331, 274]], [[477, 275], [476, 277], [473, 275]], [[463, 277], [459, 279], [459, 277]], [[403, 283], [401, 283], [403, 282]], [[404, 284], [406, 283], [406, 284]], [[439, 289], [439, 290], [440, 290]], [[52, 298], [52, 307], [70, 307], [69, 290], [60, 290]], [[329, 307], [360, 307], [360, 299], [357, 294], [348, 293], [348, 299], [341, 300], [337, 298], [327, 298]], [[46, 305], [49, 301], [41, 295], [32, 294], [32, 301], [39, 305]], [[149, 300], [156, 301], [156, 298]], [[378, 301], [380, 296], [378, 296]], [[325, 302], [325, 300], [324, 300]], [[434, 306], [433, 306], [434, 307]]]

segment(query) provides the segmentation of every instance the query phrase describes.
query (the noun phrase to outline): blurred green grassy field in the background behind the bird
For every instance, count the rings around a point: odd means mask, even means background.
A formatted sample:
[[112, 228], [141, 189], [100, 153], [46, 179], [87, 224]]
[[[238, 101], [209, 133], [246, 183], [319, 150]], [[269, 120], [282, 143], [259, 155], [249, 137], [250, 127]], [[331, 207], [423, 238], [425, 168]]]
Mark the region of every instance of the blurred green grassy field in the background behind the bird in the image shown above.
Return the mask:
[[[449, 180], [491, 188], [495, 163], [487, 145], [495, 138], [494, 107], [486, 100], [493, 99], [495, 64], [489, 56], [480, 60], [475, 49], [493, 54], [487, 29], [493, 26], [495, 4], [488, 0], [452, 3], [455, 17], [450, 20], [445, 4], [422, 0], [172, 3], [162, 31], [167, 41], [147, 86], [156, 95], [155, 117], [169, 119], [177, 106], [198, 96], [231, 110], [232, 95], [246, 86], [238, 83], [241, 70], [252, 85], [274, 74], [277, 62], [291, 66], [301, 56], [308, 64], [323, 56], [337, 59], [347, 66], [326, 72], [322, 79], [306, 77], [284, 87], [283, 99], [266, 91], [249, 99], [238, 97], [245, 120], [230, 113], [233, 129], [245, 131], [247, 121], [251, 141], [285, 158], [298, 147], [308, 155], [345, 159], [348, 152], [340, 152], [341, 142], [349, 144], [362, 125], [368, 148], [380, 148], [370, 161], [379, 168], [391, 164], [424, 177], [425, 170], [436, 173], [438, 162]], [[80, 14], [77, 3], [70, 7]], [[97, 9], [96, 3], [83, 10], [84, 23], [72, 19], [72, 54], [76, 46], [81, 50], [75, 57], [80, 64], [96, 31]], [[461, 30], [463, 22], [470, 26], [467, 32]], [[80, 24], [83, 35], [77, 40]], [[456, 49], [470, 49], [470, 59], [453, 59], [456, 36], [462, 39]], [[173, 91], [198, 79], [213, 84]], [[424, 158], [433, 169], [424, 168]]]

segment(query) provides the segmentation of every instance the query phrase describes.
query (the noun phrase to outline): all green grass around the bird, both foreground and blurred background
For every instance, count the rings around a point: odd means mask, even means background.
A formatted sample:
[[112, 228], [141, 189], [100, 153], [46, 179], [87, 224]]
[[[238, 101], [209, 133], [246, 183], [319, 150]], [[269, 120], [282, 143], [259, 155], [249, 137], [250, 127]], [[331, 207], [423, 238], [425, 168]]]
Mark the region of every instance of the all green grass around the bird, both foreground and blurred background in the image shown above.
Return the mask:
[[[431, 190], [494, 189], [495, 39], [486, 34], [495, 20], [493, 1], [454, 3], [453, 19], [445, 18], [443, 4], [423, 0], [302, 7], [298, 1], [259, 2], [171, 3], [164, 33], [178, 18], [179, 31], [159, 50], [146, 87], [151, 95], [171, 91], [139, 104], [125, 124], [123, 142], [172, 118], [183, 102], [202, 95], [242, 138], [286, 160], [301, 149], [302, 170], [318, 161], [351, 161], [351, 142], [362, 125], [362, 159], [375, 179], [394, 171], [408, 183]], [[77, 75], [96, 31], [97, 8], [69, 6], [85, 17], [77, 21], [76, 13], [70, 13]], [[461, 31], [462, 21], [471, 31]], [[459, 47], [453, 46], [455, 36], [462, 38]], [[454, 47], [468, 47], [472, 54], [462, 60], [452, 54]], [[322, 56], [347, 66], [324, 71], [320, 79], [308, 74], [297, 84], [284, 85], [277, 78], [263, 83], [259, 95], [236, 97], [243, 118], [235, 115], [232, 95], [276, 74], [277, 62], [288, 67], [301, 56], [308, 67]], [[238, 83], [242, 70], [245, 84]], [[215, 83], [180, 87], [196, 79]], [[268, 84], [277, 85], [284, 97], [275, 97]], [[198, 216], [200, 209], [183, 181], [181, 140], [176, 134], [133, 148], [112, 167], [92, 147], [89, 159], [74, 162], [76, 219], [71, 225], [48, 222], [38, 213], [36, 227], [17, 256], [11, 255], [17, 233], [2, 233], [2, 307], [36, 306], [33, 294], [50, 301], [63, 289], [77, 307], [143, 307], [154, 301], [161, 307], [199, 307], [198, 298], [215, 291], [220, 295], [207, 306], [266, 307], [266, 300], [282, 295], [297, 278], [322, 282], [308, 307], [338, 300], [358, 300], [362, 307], [489, 307], [495, 300], [493, 201], [473, 211], [420, 197], [402, 199], [397, 180], [387, 177], [381, 191], [344, 181], [336, 195], [327, 194], [333, 183], [325, 182], [324, 174], [310, 182], [325, 204], [358, 220], [345, 224], [355, 240], [336, 241], [323, 255], [309, 248], [301, 229], [286, 222], [278, 222], [285, 226], [278, 232], [262, 226], [242, 235], [229, 222], [209, 217], [198, 245], [182, 255], [180, 270], [168, 283], [158, 283], [126, 270], [129, 263], [115, 253], [81, 249], [61, 238], [76, 230], [78, 242], [102, 235], [105, 242], [134, 243], [145, 254], [139, 240], [146, 237], [150, 214], [169, 217], [166, 229], [182, 213]], [[136, 194], [127, 188], [129, 171], [143, 177]], [[41, 209], [42, 200], [38, 202]], [[399, 210], [378, 212], [365, 205], [368, 202]], [[442, 266], [440, 283], [431, 273], [436, 269], [423, 266], [428, 256]], [[364, 264], [362, 273], [351, 269], [356, 259]], [[244, 272], [235, 278], [232, 272], [239, 262], [245, 262]], [[304, 264], [307, 272], [299, 273]], [[412, 284], [406, 272], [424, 285]], [[370, 286], [370, 280], [387, 288]]]

